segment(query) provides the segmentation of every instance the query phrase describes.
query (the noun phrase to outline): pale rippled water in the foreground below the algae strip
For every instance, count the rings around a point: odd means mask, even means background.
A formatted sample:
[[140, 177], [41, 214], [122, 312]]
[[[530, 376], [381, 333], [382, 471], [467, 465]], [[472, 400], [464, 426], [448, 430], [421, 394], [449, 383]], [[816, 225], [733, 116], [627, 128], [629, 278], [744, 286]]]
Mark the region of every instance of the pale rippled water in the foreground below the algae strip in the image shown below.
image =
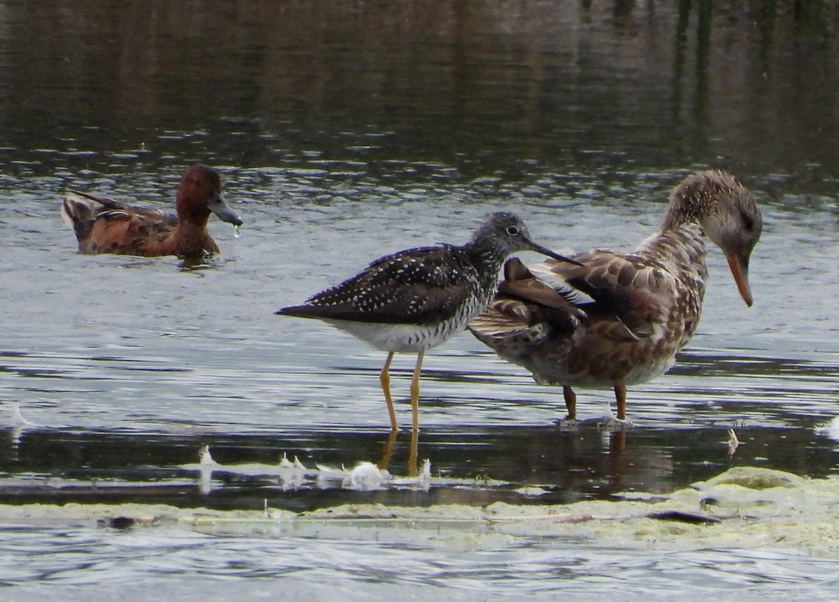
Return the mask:
[[[305, 600], [393, 595], [430, 600], [605, 597], [620, 588], [627, 599], [705, 594], [725, 598], [769, 596], [795, 589], [796, 599], [821, 599], [836, 587], [835, 563], [793, 553], [704, 550], [660, 553], [592, 548], [574, 542], [524, 542], [507, 549], [415, 548], [357, 539], [242, 537], [210, 533], [118, 533], [60, 529], [43, 533], [6, 529], [18, 546], [3, 545], [8, 600], [197, 600], [220, 598]], [[176, 542], [165, 539], [177, 537]], [[23, 549], [21, 549], [23, 548]], [[38, 552], [30, 558], [27, 553]], [[16, 564], [17, 563], [17, 564]], [[60, 566], [62, 570], [56, 571]], [[125, 583], [124, 574], [142, 575]], [[363, 594], [362, 594], [363, 592]], [[31, 598], [29, 598], [31, 599]]]

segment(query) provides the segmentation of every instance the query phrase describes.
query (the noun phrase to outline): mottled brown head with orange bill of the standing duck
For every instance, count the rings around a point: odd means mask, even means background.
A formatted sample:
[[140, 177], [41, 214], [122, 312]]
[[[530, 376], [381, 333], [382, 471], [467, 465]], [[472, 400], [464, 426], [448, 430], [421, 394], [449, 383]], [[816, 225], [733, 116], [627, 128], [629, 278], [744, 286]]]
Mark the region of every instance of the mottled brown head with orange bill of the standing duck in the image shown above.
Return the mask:
[[722, 249], [740, 296], [751, 306], [748, 259], [758, 244], [763, 217], [748, 189], [722, 171], [696, 172], [676, 186], [670, 209], [665, 222], [675, 218], [671, 213], [680, 212], [679, 221], [698, 221], [708, 238]]

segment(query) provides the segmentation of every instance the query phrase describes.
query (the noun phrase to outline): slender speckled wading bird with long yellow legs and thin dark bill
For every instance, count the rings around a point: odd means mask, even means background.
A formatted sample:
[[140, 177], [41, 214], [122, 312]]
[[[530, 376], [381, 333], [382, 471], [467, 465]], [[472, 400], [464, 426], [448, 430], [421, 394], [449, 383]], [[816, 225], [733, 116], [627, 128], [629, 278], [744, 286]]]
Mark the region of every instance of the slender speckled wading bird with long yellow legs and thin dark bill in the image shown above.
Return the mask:
[[465, 330], [492, 299], [504, 260], [510, 253], [525, 250], [557, 262], [570, 261], [531, 241], [516, 215], [493, 213], [465, 245], [420, 247], [381, 257], [304, 304], [276, 313], [321, 319], [388, 353], [379, 381], [392, 433], [397, 423], [390, 397], [390, 362], [397, 352], [417, 354], [410, 389], [415, 433], [425, 350]]

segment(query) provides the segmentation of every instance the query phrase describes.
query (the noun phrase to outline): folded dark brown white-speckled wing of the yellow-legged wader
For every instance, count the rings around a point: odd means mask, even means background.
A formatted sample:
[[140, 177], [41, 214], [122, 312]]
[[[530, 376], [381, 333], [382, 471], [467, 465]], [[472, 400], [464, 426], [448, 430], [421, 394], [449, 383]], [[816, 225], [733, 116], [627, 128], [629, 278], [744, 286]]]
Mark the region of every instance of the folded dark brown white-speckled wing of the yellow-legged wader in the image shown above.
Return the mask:
[[394, 253], [277, 314], [388, 324], [450, 318], [477, 286], [477, 272], [460, 247], [420, 247]]

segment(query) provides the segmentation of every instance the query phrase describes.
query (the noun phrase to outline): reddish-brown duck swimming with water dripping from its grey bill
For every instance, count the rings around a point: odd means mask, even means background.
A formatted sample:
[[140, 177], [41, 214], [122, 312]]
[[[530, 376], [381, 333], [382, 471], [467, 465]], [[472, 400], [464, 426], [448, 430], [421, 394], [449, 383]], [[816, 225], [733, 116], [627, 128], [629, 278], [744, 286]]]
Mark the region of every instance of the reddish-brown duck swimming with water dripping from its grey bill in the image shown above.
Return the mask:
[[61, 217], [76, 231], [81, 253], [143, 257], [198, 258], [217, 253], [218, 245], [206, 229], [211, 213], [234, 226], [242, 225], [242, 218], [221, 196], [218, 172], [206, 165], [186, 169], [175, 195], [175, 206], [178, 215], [169, 215], [71, 191], [61, 205]]

